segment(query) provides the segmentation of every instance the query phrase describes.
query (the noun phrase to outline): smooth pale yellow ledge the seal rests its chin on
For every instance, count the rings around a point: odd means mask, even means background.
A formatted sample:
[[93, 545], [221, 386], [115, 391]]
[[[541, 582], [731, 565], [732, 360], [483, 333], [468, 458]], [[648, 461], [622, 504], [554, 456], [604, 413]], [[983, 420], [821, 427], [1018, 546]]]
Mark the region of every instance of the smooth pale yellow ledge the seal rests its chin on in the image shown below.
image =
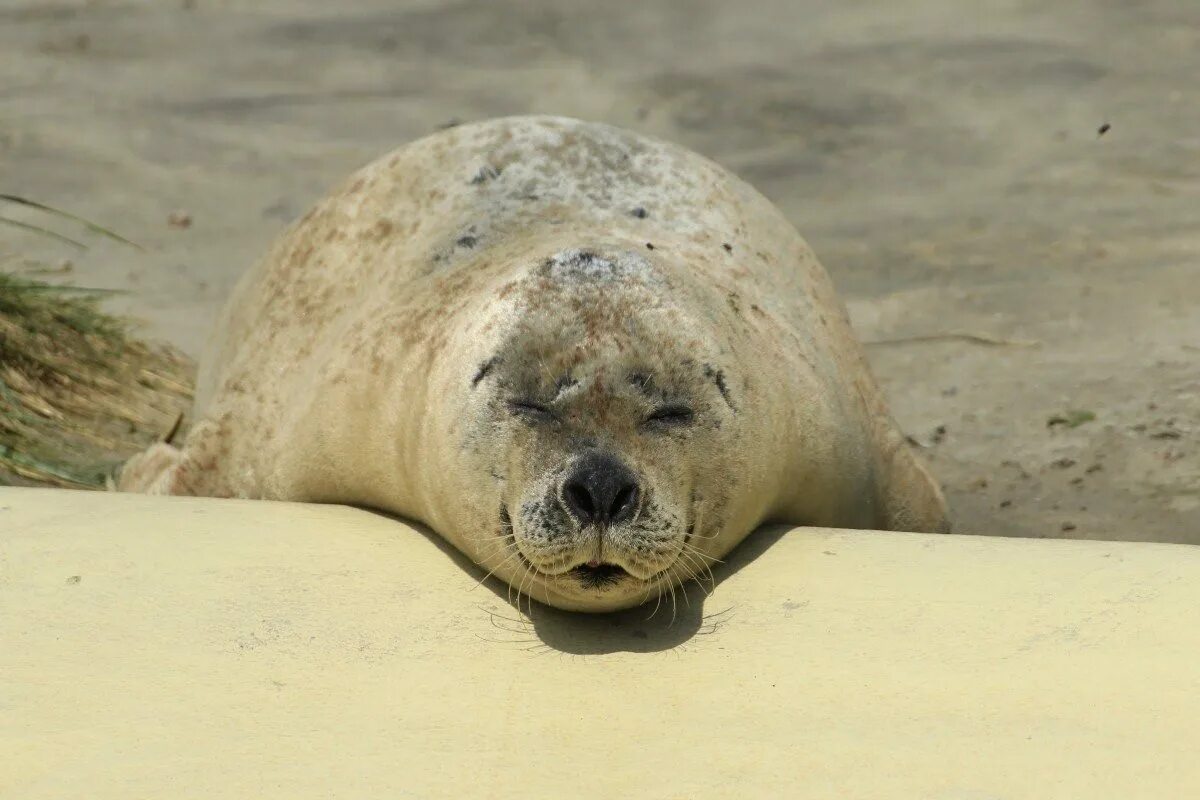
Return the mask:
[[0, 796], [1200, 796], [1200, 549], [760, 531], [534, 608], [362, 511], [0, 489]]

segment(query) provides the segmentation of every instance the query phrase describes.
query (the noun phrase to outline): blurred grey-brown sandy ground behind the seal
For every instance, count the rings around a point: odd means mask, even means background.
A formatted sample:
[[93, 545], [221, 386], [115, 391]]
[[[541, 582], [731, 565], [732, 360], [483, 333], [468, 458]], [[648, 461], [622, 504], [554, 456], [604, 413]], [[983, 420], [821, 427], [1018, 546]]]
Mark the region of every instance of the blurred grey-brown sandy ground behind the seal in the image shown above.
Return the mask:
[[604, 120], [776, 201], [864, 339], [1009, 341], [870, 347], [960, 531], [1200, 542], [1196, 76], [1190, 0], [0, 0], [0, 188], [148, 252], [0, 249], [197, 353], [353, 168], [452, 120]]

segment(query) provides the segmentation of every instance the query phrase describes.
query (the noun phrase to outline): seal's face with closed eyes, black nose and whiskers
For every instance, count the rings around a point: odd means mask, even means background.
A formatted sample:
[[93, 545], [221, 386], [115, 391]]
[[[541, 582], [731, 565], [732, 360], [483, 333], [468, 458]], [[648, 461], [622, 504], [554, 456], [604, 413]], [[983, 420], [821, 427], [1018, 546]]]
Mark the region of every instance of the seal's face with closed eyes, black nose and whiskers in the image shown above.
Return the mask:
[[740, 421], [730, 354], [672, 283], [629, 248], [557, 252], [470, 377], [463, 468], [498, 494], [485, 560], [524, 591], [619, 607], [707, 569]]

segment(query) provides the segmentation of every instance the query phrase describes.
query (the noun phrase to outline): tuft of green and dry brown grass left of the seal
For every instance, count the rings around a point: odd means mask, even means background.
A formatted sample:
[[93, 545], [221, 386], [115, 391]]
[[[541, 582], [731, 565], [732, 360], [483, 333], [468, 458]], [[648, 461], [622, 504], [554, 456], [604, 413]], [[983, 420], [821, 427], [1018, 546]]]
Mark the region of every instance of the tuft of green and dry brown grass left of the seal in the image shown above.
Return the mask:
[[0, 272], [0, 485], [103, 488], [190, 404], [192, 363], [104, 313], [103, 294]]

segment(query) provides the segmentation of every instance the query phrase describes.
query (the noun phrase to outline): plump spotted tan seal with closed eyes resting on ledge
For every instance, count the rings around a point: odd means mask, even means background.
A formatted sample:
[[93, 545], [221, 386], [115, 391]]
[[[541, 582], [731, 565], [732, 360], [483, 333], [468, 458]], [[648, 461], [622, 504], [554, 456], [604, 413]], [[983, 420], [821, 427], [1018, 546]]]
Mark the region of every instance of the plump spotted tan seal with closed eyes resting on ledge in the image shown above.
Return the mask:
[[948, 529], [781, 213], [564, 118], [353, 175], [242, 277], [191, 416], [118, 488], [382, 510], [574, 610], [673, 591], [766, 522]]

